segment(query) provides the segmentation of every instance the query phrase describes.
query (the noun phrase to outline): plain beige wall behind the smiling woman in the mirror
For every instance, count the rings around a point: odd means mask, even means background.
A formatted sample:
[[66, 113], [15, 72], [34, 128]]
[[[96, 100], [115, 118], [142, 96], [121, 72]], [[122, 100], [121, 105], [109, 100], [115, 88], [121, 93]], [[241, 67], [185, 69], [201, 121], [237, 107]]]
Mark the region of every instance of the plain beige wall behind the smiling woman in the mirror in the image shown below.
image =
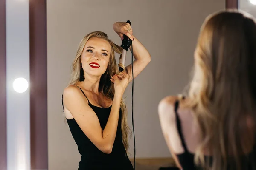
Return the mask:
[[[164, 96], [179, 93], [188, 83], [199, 28], [208, 14], [224, 6], [225, 0], [48, 0], [49, 170], [74, 170], [80, 159], [64, 122], [61, 94], [82, 37], [90, 31], [104, 31], [120, 45], [112, 25], [116, 21], [131, 20], [134, 35], [152, 57], [134, 81], [136, 157], [169, 157], [157, 105]], [[117, 62], [118, 58], [116, 56]], [[131, 53], [128, 53], [127, 63], [130, 61]], [[126, 96], [132, 129], [131, 85]], [[133, 138], [130, 146], [133, 156]]]

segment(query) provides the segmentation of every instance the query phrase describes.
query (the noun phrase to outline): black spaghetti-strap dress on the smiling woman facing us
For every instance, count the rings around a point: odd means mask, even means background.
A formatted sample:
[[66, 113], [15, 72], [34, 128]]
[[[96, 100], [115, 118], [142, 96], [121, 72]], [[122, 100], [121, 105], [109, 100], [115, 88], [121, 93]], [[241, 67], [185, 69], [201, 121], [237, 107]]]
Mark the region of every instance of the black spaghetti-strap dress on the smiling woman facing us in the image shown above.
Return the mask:
[[[82, 93], [84, 94], [83, 91]], [[92, 105], [89, 100], [88, 102], [89, 106], [98, 116], [100, 126], [104, 130], [108, 122], [111, 107], [100, 108]], [[76, 123], [75, 119], [67, 119], [70, 132], [78, 146], [78, 151], [81, 154], [81, 160], [79, 162], [78, 170], [133, 170], [131, 161], [128, 159], [125, 147], [122, 143], [121, 118], [122, 111], [120, 108], [116, 139], [114, 141], [112, 152], [110, 154], [103, 153], [101, 150], [99, 150], [93, 144], [93, 142], [91, 142], [90, 139], [84, 134], [79, 125]]]

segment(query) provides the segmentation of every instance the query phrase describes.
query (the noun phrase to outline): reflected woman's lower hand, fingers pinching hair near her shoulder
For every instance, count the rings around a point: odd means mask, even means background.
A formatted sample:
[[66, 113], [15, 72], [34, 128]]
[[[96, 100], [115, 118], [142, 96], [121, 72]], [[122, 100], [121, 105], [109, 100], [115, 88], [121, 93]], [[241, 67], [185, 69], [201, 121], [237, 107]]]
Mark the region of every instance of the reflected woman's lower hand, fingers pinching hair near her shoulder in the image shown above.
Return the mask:
[[114, 83], [115, 93], [123, 94], [125, 92], [126, 87], [128, 86], [129, 75], [126, 73], [122, 73], [119, 75], [111, 76], [111, 82]]

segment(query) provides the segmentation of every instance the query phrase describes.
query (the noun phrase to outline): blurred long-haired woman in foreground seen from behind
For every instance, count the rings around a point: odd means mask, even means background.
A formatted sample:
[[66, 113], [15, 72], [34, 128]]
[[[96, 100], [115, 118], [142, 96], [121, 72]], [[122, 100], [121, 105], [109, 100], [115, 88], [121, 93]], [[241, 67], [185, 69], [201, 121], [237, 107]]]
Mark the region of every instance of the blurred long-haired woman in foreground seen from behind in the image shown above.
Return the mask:
[[239, 11], [210, 15], [195, 49], [189, 94], [158, 106], [164, 138], [183, 170], [256, 170], [256, 23]]

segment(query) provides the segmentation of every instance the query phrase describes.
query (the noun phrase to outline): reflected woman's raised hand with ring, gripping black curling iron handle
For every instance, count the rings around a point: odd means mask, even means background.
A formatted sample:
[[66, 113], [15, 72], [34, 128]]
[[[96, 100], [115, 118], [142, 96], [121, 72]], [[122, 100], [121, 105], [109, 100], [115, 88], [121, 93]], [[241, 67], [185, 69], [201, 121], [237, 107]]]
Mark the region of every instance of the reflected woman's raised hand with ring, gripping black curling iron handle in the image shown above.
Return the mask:
[[123, 34], [127, 35], [131, 40], [134, 40], [132, 36], [132, 28], [129, 23], [116, 22], [113, 24], [114, 31], [123, 39]]

